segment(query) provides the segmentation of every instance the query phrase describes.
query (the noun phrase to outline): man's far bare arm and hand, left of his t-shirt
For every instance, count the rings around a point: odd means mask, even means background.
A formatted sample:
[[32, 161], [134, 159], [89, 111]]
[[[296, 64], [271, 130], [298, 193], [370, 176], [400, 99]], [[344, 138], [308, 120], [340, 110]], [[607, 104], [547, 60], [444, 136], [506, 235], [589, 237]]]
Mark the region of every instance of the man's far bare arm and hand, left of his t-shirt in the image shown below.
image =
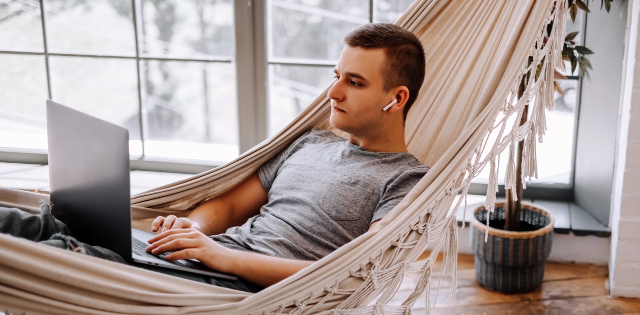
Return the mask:
[[267, 192], [256, 171], [225, 194], [200, 204], [186, 218], [177, 218], [175, 215], [157, 217], [151, 224], [151, 230], [156, 232], [161, 229], [164, 232], [168, 229], [196, 228], [205, 235], [220, 234], [259, 214], [260, 207], [267, 202]]

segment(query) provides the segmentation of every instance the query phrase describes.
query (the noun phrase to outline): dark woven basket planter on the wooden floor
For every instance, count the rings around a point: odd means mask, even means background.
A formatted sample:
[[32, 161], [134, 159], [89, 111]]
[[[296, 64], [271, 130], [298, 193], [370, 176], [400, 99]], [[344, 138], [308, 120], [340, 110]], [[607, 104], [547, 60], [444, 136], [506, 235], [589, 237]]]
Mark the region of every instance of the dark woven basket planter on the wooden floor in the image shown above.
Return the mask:
[[[500, 293], [527, 293], [538, 288], [545, 275], [545, 261], [551, 252], [554, 218], [550, 211], [522, 202], [520, 225], [532, 231], [505, 231], [504, 201], [495, 203], [486, 227], [487, 211], [480, 206], [472, 220], [472, 250], [476, 279], [481, 286]], [[488, 240], [484, 233], [488, 229]]]

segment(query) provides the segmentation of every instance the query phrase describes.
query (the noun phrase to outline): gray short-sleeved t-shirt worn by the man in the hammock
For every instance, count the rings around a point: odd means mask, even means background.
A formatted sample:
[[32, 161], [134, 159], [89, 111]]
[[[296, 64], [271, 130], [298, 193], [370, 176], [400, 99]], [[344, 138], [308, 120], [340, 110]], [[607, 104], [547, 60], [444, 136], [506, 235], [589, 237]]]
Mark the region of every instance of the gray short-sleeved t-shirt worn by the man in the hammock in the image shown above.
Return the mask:
[[259, 168], [269, 196], [260, 215], [211, 238], [233, 249], [317, 260], [364, 234], [428, 170], [410, 153], [369, 151], [314, 129]]

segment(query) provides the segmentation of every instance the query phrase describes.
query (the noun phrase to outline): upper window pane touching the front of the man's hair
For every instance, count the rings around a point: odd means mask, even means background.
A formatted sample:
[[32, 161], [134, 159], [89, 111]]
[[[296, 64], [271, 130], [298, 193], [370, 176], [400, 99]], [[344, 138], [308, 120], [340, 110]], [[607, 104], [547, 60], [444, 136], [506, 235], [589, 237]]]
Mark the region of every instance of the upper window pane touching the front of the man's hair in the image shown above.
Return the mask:
[[369, 22], [369, 1], [280, 1], [269, 3], [269, 56], [337, 60], [340, 40]]

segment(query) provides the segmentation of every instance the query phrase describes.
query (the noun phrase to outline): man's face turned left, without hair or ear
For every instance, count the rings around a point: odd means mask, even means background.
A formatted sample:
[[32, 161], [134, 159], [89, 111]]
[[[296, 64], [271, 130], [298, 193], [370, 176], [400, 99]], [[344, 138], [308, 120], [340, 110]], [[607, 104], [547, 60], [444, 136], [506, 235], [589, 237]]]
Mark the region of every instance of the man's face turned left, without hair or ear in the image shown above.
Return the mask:
[[331, 99], [329, 122], [348, 134], [372, 135], [383, 125], [385, 105], [394, 100], [385, 92], [381, 69], [383, 49], [346, 47], [334, 68], [335, 82], [327, 96]]

